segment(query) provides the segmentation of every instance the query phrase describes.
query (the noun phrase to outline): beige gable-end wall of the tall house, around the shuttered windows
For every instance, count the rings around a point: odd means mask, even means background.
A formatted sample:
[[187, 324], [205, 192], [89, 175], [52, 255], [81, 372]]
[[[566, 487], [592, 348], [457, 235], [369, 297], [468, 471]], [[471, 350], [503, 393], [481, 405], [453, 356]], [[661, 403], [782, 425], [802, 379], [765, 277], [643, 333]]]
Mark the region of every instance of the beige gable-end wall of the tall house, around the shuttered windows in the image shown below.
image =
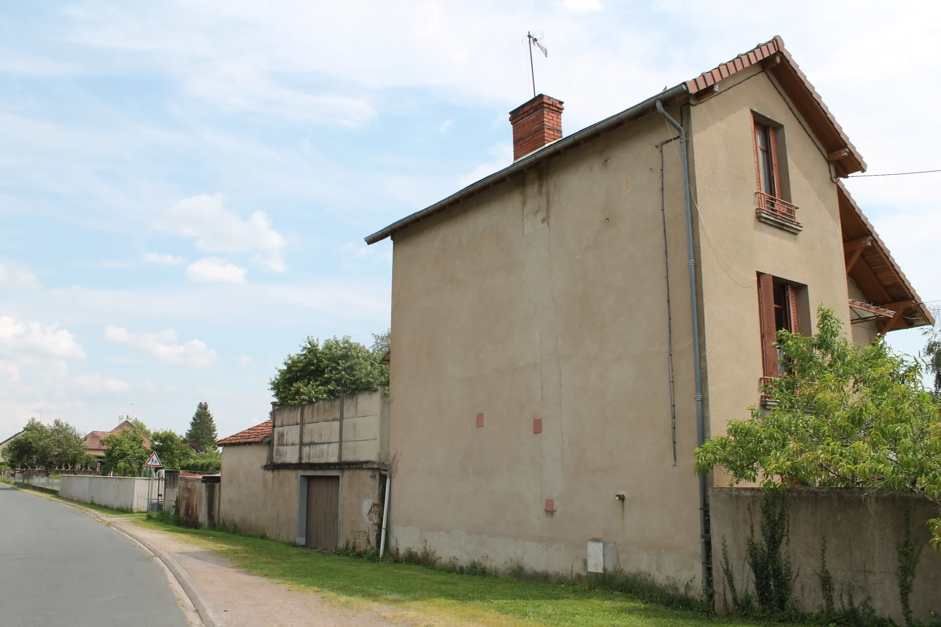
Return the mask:
[[[702, 276], [707, 437], [729, 419], [748, 419], [762, 376], [757, 273], [807, 286], [800, 294], [800, 330], [816, 330], [817, 306], [850, 327], [837, 185], [826, 158], [794, 117], [769, 76], [753, 66], [723, 81], [718, 95], [690, 108], [693, 130], [698, 253]], [[729, 85], [729, 83], [731, 83]], [[789, 199], [804, 229], [797, 234], [756, 219], [753, 111], [782, 124]], [[679, 168], [674, 156], [668, 167]], [[788, 196], [788, 195], [785, 195]], [[695, 210], [694, 210], [695, 211]], [[708, 230], [708, 232], [707, 232]], [[719, 484], [724, 479], [717, 478]]]

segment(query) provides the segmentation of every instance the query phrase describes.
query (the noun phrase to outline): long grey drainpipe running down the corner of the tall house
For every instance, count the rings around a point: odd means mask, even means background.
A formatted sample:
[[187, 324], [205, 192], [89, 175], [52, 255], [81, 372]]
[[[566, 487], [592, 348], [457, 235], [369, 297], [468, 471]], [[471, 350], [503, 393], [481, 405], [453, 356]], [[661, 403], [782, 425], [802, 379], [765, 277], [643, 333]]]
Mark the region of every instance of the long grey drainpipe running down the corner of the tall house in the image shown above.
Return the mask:
[[[702, 446], [706, 441], [706, 428], [703, 421], [703, 378], [700, 368], [699, 356], [699, 303], [696, 294], [696, 259], [693, 245], [693, 208], [690, 204], [690, 164], [686, 155], [686, 132], [663, 110], [661, 101], [657, 101], [657, 111], [666, 118], [679, 132], [679, 154], [683, 165], [683, 199], [686, 205], [686, 248], [689, 253], [690, 268], [690, 312], [693, 317], [693, 368], [695, 379], [696, 402], [696, 442]], [[709, 500], [706, 492], [706, 476], [699, 475], [699, 554], [702, 558], [702, 585], [703, 595], [709, 593], [710, 587], [710, 536], [707, 512]]]

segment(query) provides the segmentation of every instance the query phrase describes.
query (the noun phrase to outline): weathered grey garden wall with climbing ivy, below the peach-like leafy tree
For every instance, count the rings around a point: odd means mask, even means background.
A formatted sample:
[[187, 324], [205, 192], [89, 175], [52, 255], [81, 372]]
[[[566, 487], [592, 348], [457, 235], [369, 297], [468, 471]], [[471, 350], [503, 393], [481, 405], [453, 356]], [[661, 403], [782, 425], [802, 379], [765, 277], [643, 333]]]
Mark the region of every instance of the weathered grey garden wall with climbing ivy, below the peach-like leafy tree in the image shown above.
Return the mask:
[[[761, 494], [754, 489], [716, 488], [711, 490], [712, 538], [716, 547], [715, 576], [720, 608], [725, 576], [719, 565], [725, 539], [729, 562], [739, 589], [753, 581], [747, 567], [746, 539], [755, 529], [760, 540]], [[799, 606], [814, 611], [822, 604], [817, 572], [821, 570], [821, 541], [826, 536], [827, 569], [839, 595], [847, 599], [853, 587], [855, 603], [869, 598], [881, 616], [902, 624], [896, 571], [898, 544], [903, 539], [902, 512], [911, 512], [912, 536], [922, 546], [911, 597], [915, 618], [925, 623], [941, 612], [941, 553], [928, 545], [930, 533], [925, 521], [938, 515], [937, 507], [924, 499], [909, 496], [865, 498], [851, 490], [798, 491], [787, 497], [789, 534], [786, 553], [795, 574], [794, 593]], [[753, 585], [749, 589], [754, 590]], [[727, 586], [726, 586], [727, 594]]]

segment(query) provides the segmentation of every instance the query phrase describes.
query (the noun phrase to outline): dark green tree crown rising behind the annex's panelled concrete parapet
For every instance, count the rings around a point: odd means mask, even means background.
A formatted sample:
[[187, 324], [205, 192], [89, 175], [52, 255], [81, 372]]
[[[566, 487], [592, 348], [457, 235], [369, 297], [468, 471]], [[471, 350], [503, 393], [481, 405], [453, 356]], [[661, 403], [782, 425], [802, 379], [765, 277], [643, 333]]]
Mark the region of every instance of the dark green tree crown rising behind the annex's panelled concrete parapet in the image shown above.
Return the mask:
[[388, 381], [389, 368], [379, 363], [389, 346], [389, 334], [375, 335], [373, 348], [343, 336], [320, 340], [308, 337], [298, 353], [284, 360], [284, 367], [271, 380], [271, 391], [283, 403], [300, 397], [336, 399], [349, 394], [373, 392], [379, 381]]

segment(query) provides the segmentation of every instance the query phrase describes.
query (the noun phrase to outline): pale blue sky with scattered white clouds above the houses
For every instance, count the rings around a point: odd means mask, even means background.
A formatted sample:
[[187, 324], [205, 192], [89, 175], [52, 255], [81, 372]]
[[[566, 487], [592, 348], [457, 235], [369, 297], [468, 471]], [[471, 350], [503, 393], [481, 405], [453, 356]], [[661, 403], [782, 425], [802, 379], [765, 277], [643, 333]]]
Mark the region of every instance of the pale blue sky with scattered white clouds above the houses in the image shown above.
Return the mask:
[[[781, 35], [870, 173], [941, 167], [934, 3], [14, 2], [0, 7], [0, 440], [134, 411], [266, 417], [308, 335], [389, 325], [362, 238], [511, 161], [536, 86], [566, 133]], [[939, 175], [849, 181], [926, 301]], [[917, 331], [890, 334], [916, 352]], [[136, 407], [132, 410], [131, 403]]]

